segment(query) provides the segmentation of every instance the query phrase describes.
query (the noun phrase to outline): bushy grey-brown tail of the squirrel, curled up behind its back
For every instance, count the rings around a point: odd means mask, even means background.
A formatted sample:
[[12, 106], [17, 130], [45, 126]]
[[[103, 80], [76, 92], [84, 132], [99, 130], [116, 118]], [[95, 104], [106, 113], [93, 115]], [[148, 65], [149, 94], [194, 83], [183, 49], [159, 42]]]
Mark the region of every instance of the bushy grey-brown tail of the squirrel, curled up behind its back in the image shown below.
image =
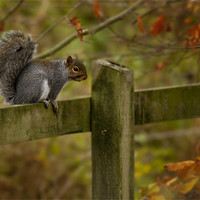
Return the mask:
[[0, 38], [0, 89], [7, 103], [13, 104], [16, 79], [35, 51], [35, 42], [21, 31], [9, 31]]

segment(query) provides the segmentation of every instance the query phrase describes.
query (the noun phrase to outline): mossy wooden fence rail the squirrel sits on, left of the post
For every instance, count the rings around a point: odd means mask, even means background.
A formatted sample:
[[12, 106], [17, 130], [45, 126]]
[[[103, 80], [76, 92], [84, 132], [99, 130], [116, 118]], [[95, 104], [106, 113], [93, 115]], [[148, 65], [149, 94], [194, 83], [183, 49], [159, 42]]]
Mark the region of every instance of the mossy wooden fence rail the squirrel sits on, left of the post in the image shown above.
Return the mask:
[[0, 109], [0, 144], [90, 131], [90, 98], [59, 102], [59, 113], [43, 104]]

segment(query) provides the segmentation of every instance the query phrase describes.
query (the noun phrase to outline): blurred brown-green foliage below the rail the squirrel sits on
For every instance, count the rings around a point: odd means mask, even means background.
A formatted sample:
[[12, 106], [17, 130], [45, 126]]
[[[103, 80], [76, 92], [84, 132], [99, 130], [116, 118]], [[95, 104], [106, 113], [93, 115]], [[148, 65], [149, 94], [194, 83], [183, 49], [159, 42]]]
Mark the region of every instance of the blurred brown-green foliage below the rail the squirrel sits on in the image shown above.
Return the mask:
[[90, 134], [64, 137], [1, 146], [0, 199], [90, 199]]

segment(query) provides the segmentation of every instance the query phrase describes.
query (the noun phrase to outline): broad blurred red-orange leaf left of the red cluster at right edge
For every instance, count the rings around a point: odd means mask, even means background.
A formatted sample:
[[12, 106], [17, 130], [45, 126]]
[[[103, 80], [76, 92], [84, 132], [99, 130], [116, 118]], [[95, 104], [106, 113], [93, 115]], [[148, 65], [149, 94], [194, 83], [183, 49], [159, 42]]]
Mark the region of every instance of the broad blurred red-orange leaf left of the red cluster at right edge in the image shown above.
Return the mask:
[[150, 29], [150, 33], [152, 36], [156, 36], [161, 32], [171, 31], [171, 30], [172, 30], [171, 24], [166, 21], [166, 17], [160, 16], [153, 23], [153, 25]]

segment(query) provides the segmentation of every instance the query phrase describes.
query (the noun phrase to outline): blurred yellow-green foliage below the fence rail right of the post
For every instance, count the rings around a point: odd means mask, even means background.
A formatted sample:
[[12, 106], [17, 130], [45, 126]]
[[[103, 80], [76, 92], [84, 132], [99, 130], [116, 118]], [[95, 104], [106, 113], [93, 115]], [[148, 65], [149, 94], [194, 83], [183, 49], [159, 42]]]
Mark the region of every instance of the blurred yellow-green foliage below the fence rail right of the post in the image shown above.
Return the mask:
[[[169, 177], [171, 179], [175, 178], [172, 173], [165, 170], [164, 165], [171, 162], [196, 159], [200, 155], [199, 124], [200, 119], [188, 119], [136, 127], [136, 199], [142, 197], [143, 190], [146, 191], [143, 197], [147, 197], [151, 193], [152, 184], [158, 186], [160, 191], [160, 183], [157, 180], [164, 181], [166, 177], [167, 180]], [[197, 127], [197, 129], [194, 129], [194, 127]], [[176, 184], [178, 185], [181, 182], [181, 180], [178, 180]], [[168, 190], [170, 190], [170, 187]], [[164, 195], [163, 191], [160, 191], [159, 194]], [[149, 200], [160, 200], [161, 197], [157, 197], [157, 195], [158, 193], [155, 193], [151, 198], [148, 196]], [[169, 199], [170, 196], [167, 198], [166, 195], [165, 198], [162, 197], [161, 199]], [[171, 199], [178, 199], [178, 197], [175, 195]]]

